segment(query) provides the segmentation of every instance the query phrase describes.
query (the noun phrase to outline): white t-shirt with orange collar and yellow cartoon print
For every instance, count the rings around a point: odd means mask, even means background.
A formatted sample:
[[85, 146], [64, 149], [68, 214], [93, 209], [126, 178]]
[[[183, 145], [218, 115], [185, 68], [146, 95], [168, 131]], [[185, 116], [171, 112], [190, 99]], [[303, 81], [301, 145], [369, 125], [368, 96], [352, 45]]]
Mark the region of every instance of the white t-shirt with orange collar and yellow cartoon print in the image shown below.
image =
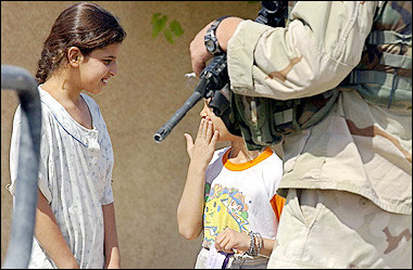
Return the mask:
[[253, 160], [234, 164], [229, 150], [215, 151], [205, 171], [203, 247], [210, 247], [226, 227], [272, 240], [277, 232], [271, 201], [281, 180], [281, 159], [267, 147]]

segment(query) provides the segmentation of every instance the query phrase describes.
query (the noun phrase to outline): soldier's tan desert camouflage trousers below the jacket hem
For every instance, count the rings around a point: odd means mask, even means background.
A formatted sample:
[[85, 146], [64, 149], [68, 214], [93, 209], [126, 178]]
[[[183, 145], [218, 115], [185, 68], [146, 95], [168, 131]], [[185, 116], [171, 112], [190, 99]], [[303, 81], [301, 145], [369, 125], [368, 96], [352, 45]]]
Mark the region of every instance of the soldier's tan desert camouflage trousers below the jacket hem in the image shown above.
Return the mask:
[[292, 190], [287, 200], [267, 268], [412, 268], [411, 216], [340, 191]]

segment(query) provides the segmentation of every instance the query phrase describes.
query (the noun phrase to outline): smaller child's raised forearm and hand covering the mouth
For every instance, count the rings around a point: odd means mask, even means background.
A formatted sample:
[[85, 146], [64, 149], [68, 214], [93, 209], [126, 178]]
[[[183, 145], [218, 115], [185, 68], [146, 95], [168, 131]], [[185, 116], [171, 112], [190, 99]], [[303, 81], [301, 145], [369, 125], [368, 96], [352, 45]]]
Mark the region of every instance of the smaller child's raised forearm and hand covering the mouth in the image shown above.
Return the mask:
[[210, 119], [202, 118], [195, 143], [189, 134], [187, 152], [190, 157], [187, 180], [177, 209], [179, 233], [188, 239], [197, 239], [201, 233], [205, 170], [215, 151], [218, 132], [213, 132]]

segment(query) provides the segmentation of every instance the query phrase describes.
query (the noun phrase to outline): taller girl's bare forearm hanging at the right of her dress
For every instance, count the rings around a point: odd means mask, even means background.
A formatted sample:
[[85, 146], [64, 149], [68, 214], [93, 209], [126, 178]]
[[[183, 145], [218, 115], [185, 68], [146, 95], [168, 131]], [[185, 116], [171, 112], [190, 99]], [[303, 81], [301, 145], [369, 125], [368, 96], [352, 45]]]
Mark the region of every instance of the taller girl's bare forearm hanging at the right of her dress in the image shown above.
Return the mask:
[[117, 243], [115, 208], [113, 203], [102, 205], [104, 224], [104, 268], [120, 269], [121, 253]]

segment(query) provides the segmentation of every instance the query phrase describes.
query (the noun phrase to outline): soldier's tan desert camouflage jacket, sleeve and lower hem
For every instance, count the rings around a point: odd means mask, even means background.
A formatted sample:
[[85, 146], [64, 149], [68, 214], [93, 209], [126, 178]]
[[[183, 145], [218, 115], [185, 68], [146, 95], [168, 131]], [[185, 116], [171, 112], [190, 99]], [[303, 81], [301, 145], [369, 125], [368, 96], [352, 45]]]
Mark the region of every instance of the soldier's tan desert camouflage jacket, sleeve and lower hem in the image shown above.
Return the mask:
[[[242, 22], [228, 42], [233, 91], [275, 100], [334, 95], [328, 89], [336, 88], [359, 65], [380, 7], [393, 5], [305, 1], [293, 5], [288, 28]], [[329, 20], [320, 20], [323, 12]], [[298, 37], [300, 42], [296, 42]], [[277, 73], [283, 80], [274, 75]], [[329, 113], [316, 125], [284, 137], [280, 195], [290, 188], [345, 190], [370, 198], [384, 210], [411, 215], [412, 108], [388, 108], [366, 102], [352, 88], [337, 89]], [[256, 127], [265, 125], [256, 105], [243, 110], [245, 119]]]

